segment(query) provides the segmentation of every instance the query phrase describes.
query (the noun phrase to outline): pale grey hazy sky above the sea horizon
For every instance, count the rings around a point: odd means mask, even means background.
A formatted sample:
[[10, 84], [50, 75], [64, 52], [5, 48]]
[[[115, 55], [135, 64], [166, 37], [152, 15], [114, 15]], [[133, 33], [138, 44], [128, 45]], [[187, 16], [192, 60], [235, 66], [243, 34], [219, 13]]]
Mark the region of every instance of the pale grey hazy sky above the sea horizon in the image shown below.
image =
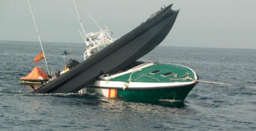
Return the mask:
[[[256, 0], [75, 0], [86, 32], [121, 37], [163, 5], [180, 13], [161, 45], [256, 49]], [[31, 0], [42, 42], [83, 43], [72, 0]], [[27, 0], [0, 0], [0, 40], [38, 41]]]

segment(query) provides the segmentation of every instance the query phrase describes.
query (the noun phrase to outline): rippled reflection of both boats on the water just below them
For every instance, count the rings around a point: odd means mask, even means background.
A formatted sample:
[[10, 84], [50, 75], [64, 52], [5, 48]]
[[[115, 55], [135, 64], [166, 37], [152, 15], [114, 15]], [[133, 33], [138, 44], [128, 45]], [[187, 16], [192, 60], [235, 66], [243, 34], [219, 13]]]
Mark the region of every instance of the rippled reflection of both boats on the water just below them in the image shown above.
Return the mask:
[[[47, 106], [54, 105], [66, 109], [74, 109], [76, 111], [95, 111], [95, 113], [118, 113], [118, 114], [189, 114], [191, 111], [183, 101], [163, 100], [156, 102], [130, 102], [123, 98], [109, 99], [99, 95], [88, 94], [29, 94], [29, 97], [34, 97], [36, 104], [34, 109], [47, 108]], [[35, 98], [36, 97], [36, 98]], [[68, 110], [67, 110], [68, 112]]]

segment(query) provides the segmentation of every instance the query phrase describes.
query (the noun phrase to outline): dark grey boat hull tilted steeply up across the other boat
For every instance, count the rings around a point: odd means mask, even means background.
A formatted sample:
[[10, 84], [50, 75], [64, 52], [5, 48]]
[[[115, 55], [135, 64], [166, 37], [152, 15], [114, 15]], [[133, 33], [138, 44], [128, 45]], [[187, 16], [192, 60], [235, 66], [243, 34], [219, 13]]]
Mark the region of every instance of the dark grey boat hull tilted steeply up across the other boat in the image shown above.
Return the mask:
[[100, 75], [121, 70], [159, 45], [170, 32], [177, 15], [178, 10], [171, 10], [171, 5], [163, 8], [156, 16], [34, 93], [77, 92]]

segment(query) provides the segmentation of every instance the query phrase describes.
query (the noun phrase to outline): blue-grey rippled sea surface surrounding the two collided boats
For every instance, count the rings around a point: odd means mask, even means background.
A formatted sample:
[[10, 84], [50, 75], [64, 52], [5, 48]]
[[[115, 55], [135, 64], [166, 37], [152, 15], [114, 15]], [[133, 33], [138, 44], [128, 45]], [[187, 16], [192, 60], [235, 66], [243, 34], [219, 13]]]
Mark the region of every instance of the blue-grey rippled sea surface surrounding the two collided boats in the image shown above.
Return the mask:
[[[64, 50], [83, 60], [82, 44], [43, 44], [51, 71]], [[30, 94], [19, 84], [35, 66], [38, 42], [0, 41], [0, 130], [256, 130], [256, 89], [199, 82], [184, 102], [126, 102], [77, 94]], [[70, 56], [74, 57], [74, 56]], [[159, 46], [142, 61], [181, 64], [201, 80], [256, 86], [256, 49]], [[45, 69], [46, 71], [46, 69]]]

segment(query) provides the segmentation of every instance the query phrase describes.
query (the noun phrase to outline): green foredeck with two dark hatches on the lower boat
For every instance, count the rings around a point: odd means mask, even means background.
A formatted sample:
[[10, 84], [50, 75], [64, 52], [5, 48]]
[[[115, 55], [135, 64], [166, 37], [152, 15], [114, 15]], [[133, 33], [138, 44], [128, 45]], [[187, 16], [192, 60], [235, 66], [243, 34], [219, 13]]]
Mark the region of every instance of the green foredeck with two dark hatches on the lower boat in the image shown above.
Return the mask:
[[[150, 63], [149, 63], [150, 64]], [[161, 71], [156, 74], [150, 74], [153, 71]], [[161, 76], [168, 72], [172, 72], [170, 76]], [[122, 81], [122, 82], [192, 82], [191, 79], [185, 79], [190, 77], [197, 79], [195, 72], [189, 67], [175, 65], [175, 64], [152, 64], [140, 68], [138, 70], [127, 71], [121, 76], [111, 77], [108, 81]]]

